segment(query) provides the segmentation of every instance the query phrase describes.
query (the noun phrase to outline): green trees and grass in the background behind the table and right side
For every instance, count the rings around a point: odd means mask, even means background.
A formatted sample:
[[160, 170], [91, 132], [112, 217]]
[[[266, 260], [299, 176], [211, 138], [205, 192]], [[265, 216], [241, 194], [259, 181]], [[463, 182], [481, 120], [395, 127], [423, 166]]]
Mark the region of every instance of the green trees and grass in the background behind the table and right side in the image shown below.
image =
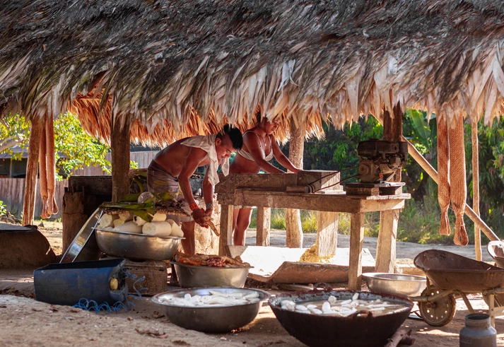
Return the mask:
[[[352, 127], [346, 125], [342, 130], [324, 125], [326, 138], [322, 141], [311, 139], [305, 142], [304, 167], [307, 170], [337, 170], [358, 165], [356, 147], [359, 141], [380, 139], [382, 126], [375, 118], [361, 119]], [[403, 134], [414, 144], [433, 167], [437, 167], [436, 119], [426, 112], [408, 110], [403, 117]], [[466, 164], [467, 164], [467, 205], [472, 206], [472, 168], [471, 168], [471, 124], [466, 123]], [[479, 185], [481, 218], [500, 237], [504, 237], [504, 119], [495, 119], [490, 127], [483, 122], [478, 125], [479, 139]], [[288, 153], [288, 143], [282, 148]], [[341, 178], [355, 175], [356, 169], [343, 172]], [[355, 180], [355, 179], [352, 179]], [[440, 208], [438, 186], [424, 172], [411, 156], [403, 167], [402, 180], [412, 199], [406, 201], [399, 218], [397, 240], [418, 243], [451, 244], [452, 235], [439, 234]], [[348, 182], [351, 182], [349, 180]], [[273, 209], [275, 210], [275, 209]], [[281, 222], [283, 211], [272, 211], [271, 228], [285, 228]], [[252, 223], [254, 222], [252, 216]], [[275, 217], [274, 217], [275, 216]], [[278, 216], [278, 217], [277, 217]], [[380, 213], [366, 213], [365, 235], [377, 236]], [[450, 225], [455, 228], [455, 216], [449, 211]], [[305, 233], [317, 230], [316, 213], [302, 211], [301, 223]], [[474, 224], [464, 218], [469, 242], [474, 243]], [[285, 223], [285, 222], [283, 222]], [[251, 225], [252, 227], [252, 225]], [[339, 232], [348, 234], [350, 216], [339, 215]]]

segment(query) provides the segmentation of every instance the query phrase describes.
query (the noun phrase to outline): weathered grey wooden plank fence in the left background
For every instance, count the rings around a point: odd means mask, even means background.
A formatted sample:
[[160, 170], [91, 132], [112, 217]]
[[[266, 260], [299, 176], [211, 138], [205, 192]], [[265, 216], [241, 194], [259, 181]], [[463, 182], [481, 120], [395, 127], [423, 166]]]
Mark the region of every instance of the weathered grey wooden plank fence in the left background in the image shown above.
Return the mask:
[[[158, 151], [144, 151], [144, 152], [131, 152], [130, 160], [139, 163], [139, 168], [146, 168], [151, 163], [151, 160], [158, 153]], [[111, 160], [110, 153], [107, 153], [107, 160]], [[72, 175], [74, 176], [102, 176], [107, 175], [100, 167], [86, 167], [81, 170], [76, 170]], [[65, 187], [68, 187], [68, 181], [62, 180], [56, 182], [56, 202], [58, 204], [59, 212], [51, 218], [61, 218], [61, 209], [63, 204], [63, 194]], [[40, 218], [42, 212], [42, 199], [40, 199], [40, 192], [38, 191], [37, 180], [37, 196], [35, 197], [35, 218]], [[25, 179], [24, 178], [0, 178], [0, 201], [4, 202], [7, 210], [14, 216], [20, 216], [23, 212], [23, 196], [25, 194]]]

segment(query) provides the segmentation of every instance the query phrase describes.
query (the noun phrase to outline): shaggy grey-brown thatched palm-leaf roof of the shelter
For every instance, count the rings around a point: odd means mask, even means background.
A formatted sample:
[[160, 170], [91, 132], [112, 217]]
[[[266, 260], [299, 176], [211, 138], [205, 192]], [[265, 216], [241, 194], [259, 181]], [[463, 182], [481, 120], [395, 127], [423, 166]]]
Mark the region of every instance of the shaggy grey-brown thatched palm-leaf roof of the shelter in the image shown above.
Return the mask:
[[486, 122], [504, 111], [498, 0], [4, 2], [4, 112], [57, 114], [93, 88], [149, 130], [194, 112], [250, 122], [258, 105], [336, 126], [397, 102]]

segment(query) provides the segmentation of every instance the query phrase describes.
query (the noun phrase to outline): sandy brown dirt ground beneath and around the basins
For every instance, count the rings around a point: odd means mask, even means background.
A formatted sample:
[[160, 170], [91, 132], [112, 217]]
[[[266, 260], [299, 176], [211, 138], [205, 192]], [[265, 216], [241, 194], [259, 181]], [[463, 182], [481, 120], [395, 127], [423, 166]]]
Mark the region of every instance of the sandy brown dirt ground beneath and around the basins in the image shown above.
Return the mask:
[[[61, 228], [58, 223], [44, 222], [44, 225], [40, 230], [54, 252], [61, 254]], [[254, 245], [253, 233], [247, 235], [250, 235], [247, 244]], [[313, 242], [315, 234], [305, 235], [305, 247], [310, 247]], [[374, 256], [376, 240], [366, 237], [364, 242], [364, 247]], [[348, 237], [339, 235], [338, 244], [348, 247]], [[272, 232], [271, 245], [285, 245], [285, 232]], [[431, 248], [434, 247], [397, 242], [397, 257], [412, 258]], [[471, 252], [474, 252], [468, 247], [443, 246], [443, 249], [469, 257], [473, 257]], [[247, 281], [247, 286], [257, 286], [257, 283]], [[274, 287], [262, 289], [273, 295], [279, 293]], [[288, 335], [266, 302], [256, 319], [246, 327], [229, 334], [203, 334], [171, 324], [160, 307], [148, 297], [134, 300], [132, 310], [118, 314], [95, 314], [69, 306], [37, 302], [33, 300], [32, 271], [0, 271], [0, 294], [0, 319], [3, 322], [0, 346], [305, 346]], [[469, 300], [475, 310], [486, 310], [481, 295], [470, 295]], [[458, 334], [468, 313], [459, 298], [457, 314], [445, 327], [430, 327], [416, 319], [406, 319], [403, 327], [412, 329], [412, 336], [416, 339], [414, 346], [455, 347], [459, 346]], [[496, 319], [496, 329], [498, 346], [504, 346], [504, 317]]]

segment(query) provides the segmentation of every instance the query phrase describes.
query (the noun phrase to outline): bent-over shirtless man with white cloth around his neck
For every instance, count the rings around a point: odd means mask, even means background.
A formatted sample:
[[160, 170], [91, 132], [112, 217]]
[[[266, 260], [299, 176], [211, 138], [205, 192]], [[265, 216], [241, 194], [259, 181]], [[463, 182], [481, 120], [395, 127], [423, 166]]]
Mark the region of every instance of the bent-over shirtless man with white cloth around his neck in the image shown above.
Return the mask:
[[[151, 193], [180, 191], [184, 196], [182, 209], [192, 216], [182, 221], [184, 252], [193, 255], [194, 226], [198, 223], [207, 227], [205, 216], [213, 210], [213, 186], [218, 183], [217, 169], [221, 165], [224, 175], [228, 174], [231, 153], [242, 148], [242, 133], [237, 128], [225, 125], [216, 135], [194, 136], [172, 143], [160, 151], [147, 170], [147, 186]], [[199, 166], [209, 165], [203, 180], [203, 197], [206, 208], [200, 208], [192, 194], [189, 177]]]

